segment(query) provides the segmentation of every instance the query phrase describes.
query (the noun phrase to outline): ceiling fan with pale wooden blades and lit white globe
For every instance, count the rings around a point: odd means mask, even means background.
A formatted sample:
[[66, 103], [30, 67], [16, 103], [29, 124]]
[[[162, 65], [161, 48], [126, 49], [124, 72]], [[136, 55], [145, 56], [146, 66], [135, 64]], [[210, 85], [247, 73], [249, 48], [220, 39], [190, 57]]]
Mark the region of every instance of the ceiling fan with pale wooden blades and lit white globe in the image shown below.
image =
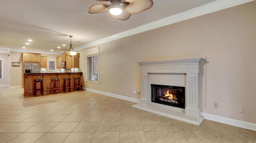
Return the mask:
[[111, 18], [128, 20], [132, 14], [138, 14], [153, 6], [152, 0], [98, 0], [110, 1], [111, 4], [95, 4], [90, 6], [89, 14], [108, 12]]

